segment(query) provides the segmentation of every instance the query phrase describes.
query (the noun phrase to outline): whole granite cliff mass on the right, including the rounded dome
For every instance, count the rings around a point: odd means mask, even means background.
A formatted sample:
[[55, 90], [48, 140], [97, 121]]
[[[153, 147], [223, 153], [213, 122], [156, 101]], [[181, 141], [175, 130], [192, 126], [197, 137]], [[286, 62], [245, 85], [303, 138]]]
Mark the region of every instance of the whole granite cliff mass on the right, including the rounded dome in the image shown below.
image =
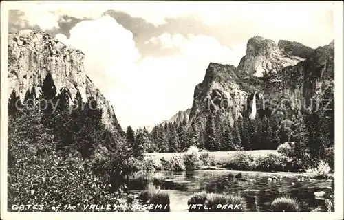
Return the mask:
[[266, 103], [264, 109], [257, 107], [262, 117], [308, 107], [310, 99], [323, 97], [326, 91], [334, 94], [334, 41], [314, 50], [290, 41], [276, 45], [256, 36], [248, 41], [238, 67], [208, 65], [203, 82], [195, 87], [189, 123], [204, 126], [208, 111], [233, 123], [250, 114], [255, 92], [257, 103]]

